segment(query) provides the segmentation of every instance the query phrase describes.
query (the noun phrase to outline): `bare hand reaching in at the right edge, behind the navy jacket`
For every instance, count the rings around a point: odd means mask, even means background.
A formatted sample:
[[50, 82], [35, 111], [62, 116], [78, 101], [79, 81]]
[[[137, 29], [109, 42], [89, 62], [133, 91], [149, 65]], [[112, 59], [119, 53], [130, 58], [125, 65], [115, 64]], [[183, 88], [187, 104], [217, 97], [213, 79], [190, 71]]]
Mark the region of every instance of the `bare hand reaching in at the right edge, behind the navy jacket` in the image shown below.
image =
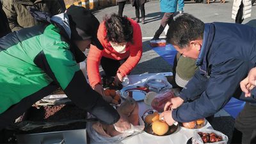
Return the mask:
[[251, 96], [251, 90], [256, 86], [256, 68], [252, 68], [248, 76], [240, 82], [241, 90], [245, 93], [245, 97]]

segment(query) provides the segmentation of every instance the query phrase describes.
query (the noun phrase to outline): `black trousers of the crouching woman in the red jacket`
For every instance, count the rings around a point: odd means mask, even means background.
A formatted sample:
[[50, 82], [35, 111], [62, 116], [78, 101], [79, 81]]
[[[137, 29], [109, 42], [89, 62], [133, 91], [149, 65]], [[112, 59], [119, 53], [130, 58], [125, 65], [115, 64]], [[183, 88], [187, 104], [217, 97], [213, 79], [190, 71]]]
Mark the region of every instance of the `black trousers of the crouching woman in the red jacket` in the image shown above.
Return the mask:
[[102, 66], [102, 69], [104, 70], [106, 76], [116, 76], [116, 71], [118, 68], [123, 64], [126, 59], [122, 59], [120, 61], [115, 59], [109, 59], [107, 57], [102, 57], [100, 60], [100, 64]]

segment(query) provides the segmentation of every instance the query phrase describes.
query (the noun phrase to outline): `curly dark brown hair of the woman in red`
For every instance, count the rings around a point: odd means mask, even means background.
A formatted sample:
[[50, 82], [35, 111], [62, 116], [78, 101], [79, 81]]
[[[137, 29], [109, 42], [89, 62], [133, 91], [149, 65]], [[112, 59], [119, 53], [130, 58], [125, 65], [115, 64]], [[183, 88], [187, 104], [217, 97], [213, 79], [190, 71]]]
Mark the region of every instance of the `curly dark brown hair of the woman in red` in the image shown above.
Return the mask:
[[110, 17], [104, 17], [107, 41], [114, 43], [132, 42], [132, 25], [126, 16], [120, 17], [113, 13]]

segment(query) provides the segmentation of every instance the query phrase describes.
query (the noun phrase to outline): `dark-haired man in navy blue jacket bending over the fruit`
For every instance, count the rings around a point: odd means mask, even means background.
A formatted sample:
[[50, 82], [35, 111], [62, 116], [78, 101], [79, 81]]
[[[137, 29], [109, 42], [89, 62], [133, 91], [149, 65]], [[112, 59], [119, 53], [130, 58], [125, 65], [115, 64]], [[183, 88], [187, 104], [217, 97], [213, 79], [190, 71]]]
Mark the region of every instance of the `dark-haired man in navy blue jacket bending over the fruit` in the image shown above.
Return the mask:
[[[232, 96], [244, 96], [239, 83], [256, 64], [255, 28], [221, 22], [204, 24], [188, 13], [173, 16], [169, 25], [172, 29], [166, 40], [180, 54], [196, 59], [199, 70], [180, 96], [166, 103], [160, 117], [170, 126], [175, 121], [189, 122], [218, 112]], [[255, 92], [251, 94], [254, 101]], [[252, 123], [243, 123], [243, 127], [256, 129], [256, 123]]]

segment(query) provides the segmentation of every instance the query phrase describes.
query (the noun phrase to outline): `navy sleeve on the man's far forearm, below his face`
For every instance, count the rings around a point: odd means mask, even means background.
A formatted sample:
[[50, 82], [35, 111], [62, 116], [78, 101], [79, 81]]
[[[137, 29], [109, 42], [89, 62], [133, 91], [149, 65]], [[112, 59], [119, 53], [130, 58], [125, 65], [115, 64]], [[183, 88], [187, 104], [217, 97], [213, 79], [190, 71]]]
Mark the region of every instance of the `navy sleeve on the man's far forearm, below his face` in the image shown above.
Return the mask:
[[208, 78], [205, 75], [201, 75], [200, 69], [198, 69], [193, 78], [191, 78], [188, 84], [181, 90], [180, 98], [182, 98], [185, 103], [195, 100], [204, 92], [207, 82]]

